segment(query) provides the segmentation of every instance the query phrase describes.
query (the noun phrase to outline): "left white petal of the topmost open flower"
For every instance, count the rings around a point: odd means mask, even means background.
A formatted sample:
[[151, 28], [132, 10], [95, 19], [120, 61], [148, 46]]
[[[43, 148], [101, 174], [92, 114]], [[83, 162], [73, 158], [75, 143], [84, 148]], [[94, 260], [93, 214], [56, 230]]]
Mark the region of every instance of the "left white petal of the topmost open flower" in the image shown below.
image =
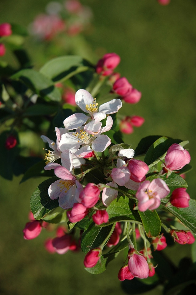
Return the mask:
[[89, 117], [86, 116], [85, 114], [76, 113], [76, 114], [73, 114], [73, 115], [69, 116], [68, 118], [66, 118], [63, 121], [63, 124], [64, 124], [65, 128], [67, 128], [69, 130], [73, 130], [73, 129], [76, 129], [76, 128], [84, 125], [88, 119], [89, 119]]

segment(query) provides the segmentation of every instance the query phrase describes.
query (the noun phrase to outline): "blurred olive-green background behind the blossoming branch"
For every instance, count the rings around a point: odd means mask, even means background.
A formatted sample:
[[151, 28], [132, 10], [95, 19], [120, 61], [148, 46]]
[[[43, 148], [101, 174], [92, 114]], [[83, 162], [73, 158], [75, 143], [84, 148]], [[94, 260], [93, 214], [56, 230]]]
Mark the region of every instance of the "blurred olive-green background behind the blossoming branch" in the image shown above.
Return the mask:
[[[0, 23], [27, 26], [44, 12], [48, 2], [1, 0]], [[161, 6], [156, 0], [81, 0], [81, 3], [90, 6], [94, 15], [94, 29], [86, 36], [96, 53], [91, 61], [96, 63], [95, 56], [107, 52], [119, 54], [117, 71], [142, 92], [138, 104], [126, 105], [120, 111], [122, 115], [145, 118], [142, 127], [125, 136], [125, 142], [136, 148], [139, 140], [148, 135], [189, 140], [186, 148], [191, 154], [191, 164], [196, 167], [196, 1], [171, 0], [168, 6]], [[25, 48], [39, 68], [42, 65], [39, 47], [31, 42], [27, 38]], [[0, 294], [125, 294], [117, 278], [124, 254], [106, 272], [92, 275], [84, 270], [82, 253], [48, 254], [43, 247], [44, 239], [49, 236], [46, 231], [35, 240], [23, 239], [30, 196], [40, 179], [19, 185], [21, 178], [15, 177], [12, 182], [0, 179]], [[186, 181], [187, 192], [195, 198], [195, 168], [187, 174]], [[178, 264], [183, 255], [190, 255], [190, 245], [176, 245], [167, 253]], [[161, 294], [161, 288], [145, 294]]]

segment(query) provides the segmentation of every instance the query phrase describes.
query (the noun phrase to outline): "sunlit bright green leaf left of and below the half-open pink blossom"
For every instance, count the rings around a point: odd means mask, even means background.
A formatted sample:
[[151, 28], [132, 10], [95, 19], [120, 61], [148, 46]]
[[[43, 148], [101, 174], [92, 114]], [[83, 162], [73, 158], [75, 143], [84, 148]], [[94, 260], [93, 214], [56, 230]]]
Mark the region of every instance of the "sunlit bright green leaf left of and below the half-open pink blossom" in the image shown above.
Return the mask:
[[135, 202], [127, 196], [120, 196], [112, 201], [106, 211], [109, 215], [109, 223], [117, 221], [132, 221], [141, 224], [137, 210], [133, 210]]

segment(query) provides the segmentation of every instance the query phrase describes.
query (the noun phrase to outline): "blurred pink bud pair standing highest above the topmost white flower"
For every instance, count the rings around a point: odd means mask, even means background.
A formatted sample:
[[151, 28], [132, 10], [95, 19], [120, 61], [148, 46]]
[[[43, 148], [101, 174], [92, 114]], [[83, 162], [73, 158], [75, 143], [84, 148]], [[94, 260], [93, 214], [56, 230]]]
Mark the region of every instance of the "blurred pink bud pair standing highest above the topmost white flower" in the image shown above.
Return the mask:
[[116, 53], [106, 53], [97, 63], [96, 72], [103, 76], [109, 76], [120, 63], [120, 56]]

